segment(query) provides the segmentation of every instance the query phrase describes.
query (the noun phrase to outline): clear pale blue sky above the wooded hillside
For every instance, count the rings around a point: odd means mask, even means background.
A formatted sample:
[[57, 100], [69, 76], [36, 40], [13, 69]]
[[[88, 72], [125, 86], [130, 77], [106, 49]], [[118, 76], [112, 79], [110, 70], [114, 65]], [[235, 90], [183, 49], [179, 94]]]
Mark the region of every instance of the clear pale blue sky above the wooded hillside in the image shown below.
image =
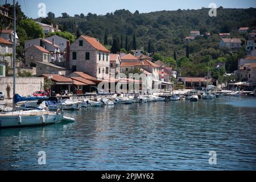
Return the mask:
[[[4, 4], [5, 0], [0, 0]], [[13, 0], [7, 0], [11, 3]], [[209, 3], [215, 3], [217, 7], [225, 8], [249, 8], [256, 7], [255, 0], [18, 0], [23, 12], [32, 18], [38, 18], [39, 3], [46, 4], [46, 12], [52, 11], [55, 16], [61, 13], [74, 14], [96, 13], [105, 15], [119, 9], [127, 9], [134, 13], [151, 11], [177, 10], [177, 9], [201, 9], [208, 7]]]

